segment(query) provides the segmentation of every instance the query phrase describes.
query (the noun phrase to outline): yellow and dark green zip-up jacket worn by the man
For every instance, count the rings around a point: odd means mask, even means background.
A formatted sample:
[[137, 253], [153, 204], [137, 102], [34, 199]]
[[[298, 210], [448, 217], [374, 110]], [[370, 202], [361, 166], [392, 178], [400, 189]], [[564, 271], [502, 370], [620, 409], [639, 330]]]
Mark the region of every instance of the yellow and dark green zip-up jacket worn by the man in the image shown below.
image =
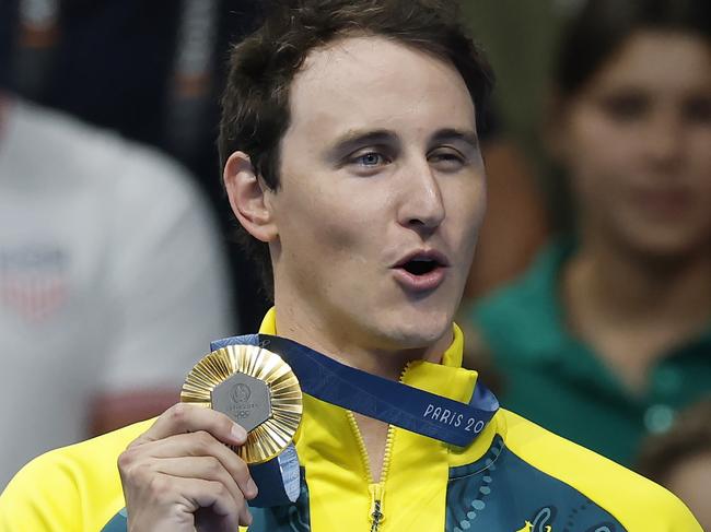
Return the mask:
[[[466, 403], [477, 374], [454, 330], [442, 364], [413, 362], [401, 381]], [[0, 496], [0, 532], [125, 532], [116, 461], [151, 423], [32, 461]], [[701, 532], [664, 488], [503, 409], [467, 448], [391, 427], [377, 483], [347, 410], [305, 395], [295, 444], [301, 496], [253, 508], [250, 532]]]

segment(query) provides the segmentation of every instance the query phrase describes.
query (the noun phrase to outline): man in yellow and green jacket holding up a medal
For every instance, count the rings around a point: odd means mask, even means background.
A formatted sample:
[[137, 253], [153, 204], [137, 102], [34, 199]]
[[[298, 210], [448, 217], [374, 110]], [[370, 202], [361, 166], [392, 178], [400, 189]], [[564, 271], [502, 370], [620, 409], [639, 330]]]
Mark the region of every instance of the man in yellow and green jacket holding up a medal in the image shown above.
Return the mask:
[[[477, 375], [452, 317], [483, 215], [486, 64], [439, 2], [291, 3], [234, 50], [223, 102], [230, 202], [273, 271], [261, 332], [464, 405]], [[457, 447], [305, 394], [301, 495], [250, 510], [265, 486], [223, 445], [245, 437], [183, 404], [47, 454], [0, 530], [700, 530], [661, 487], [503, 410]]]

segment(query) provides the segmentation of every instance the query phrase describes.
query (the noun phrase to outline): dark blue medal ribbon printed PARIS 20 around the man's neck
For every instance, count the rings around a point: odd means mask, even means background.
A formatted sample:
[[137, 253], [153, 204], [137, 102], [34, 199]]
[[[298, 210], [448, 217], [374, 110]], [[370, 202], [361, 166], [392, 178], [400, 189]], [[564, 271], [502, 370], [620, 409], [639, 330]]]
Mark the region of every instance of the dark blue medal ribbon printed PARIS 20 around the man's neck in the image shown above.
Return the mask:
[[[481, 382], [466, 404], [346, 366], [281, 336], [232, 336], [211, 342], [210, 351], [228, 345], [257, 345], [278, 354], [291, 366], [302, 391], [316, 399], [459, 447], [474, 441], [499, 409], [496, 395]], [[252, 507], [292, 504], [303, 489], [293, 444], [272, 460], [249, 465], [249, 472], [259, 486]], [[126, 527], [121, 510], [102, 531], [125, 531]]]

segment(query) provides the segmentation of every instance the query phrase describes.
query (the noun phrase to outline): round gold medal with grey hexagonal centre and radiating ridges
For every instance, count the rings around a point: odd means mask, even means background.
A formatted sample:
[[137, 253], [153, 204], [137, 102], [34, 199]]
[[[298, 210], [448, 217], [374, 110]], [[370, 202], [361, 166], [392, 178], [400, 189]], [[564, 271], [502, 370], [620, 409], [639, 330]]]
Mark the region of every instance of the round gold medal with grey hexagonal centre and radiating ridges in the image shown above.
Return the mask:
[[188, 374], [180, 401], [226, 414], [247, 430], [232, 447], [247, 463], [263, 463], [293, 440], [303, 411], [296, 376], [279, 355], [256, 345], [229, 345]]

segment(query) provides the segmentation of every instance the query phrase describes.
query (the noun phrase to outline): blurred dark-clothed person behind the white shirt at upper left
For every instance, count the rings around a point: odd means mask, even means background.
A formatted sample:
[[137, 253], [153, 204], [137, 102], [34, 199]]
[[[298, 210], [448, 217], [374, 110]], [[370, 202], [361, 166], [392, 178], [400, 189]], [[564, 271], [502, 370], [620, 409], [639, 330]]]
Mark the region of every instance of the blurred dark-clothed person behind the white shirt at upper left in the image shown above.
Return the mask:
[[[161, 149], [186, 166], [223, 235], [215, 139], [229, 43], [255, 24], [259, 0], [2, 0], [0, 83]], [[256, 330], [268, 303], [258, 275], [230, 238], [226, 248], [241, 324]]]

